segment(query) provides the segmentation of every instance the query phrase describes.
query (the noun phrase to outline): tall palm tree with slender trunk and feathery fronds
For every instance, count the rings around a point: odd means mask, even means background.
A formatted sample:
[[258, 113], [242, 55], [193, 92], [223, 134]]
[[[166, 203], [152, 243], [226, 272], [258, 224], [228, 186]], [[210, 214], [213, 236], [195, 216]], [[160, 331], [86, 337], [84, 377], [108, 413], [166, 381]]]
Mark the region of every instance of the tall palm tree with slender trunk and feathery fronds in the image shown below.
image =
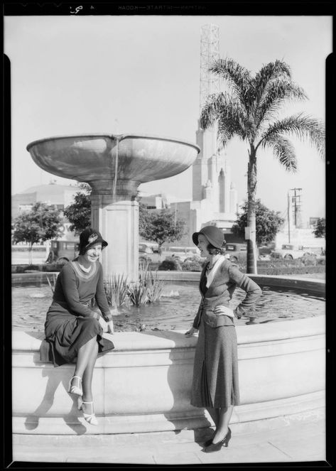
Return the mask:
[[263, 65], [256, 75], [234, 60], [219, 59], [210, 71], [222, 77], [229, 92], [211, 94], [200, 115], [203, 129], [217, 124], [217, 140], [223, 147], [234, 136], [249, 145], [247, 168], [247, 273], [256, 273], [256, 153], [271, 148], [288, 171], [296, 171], [297, 159], [288, 135], [308, 139], [324, 155], [323, 124], [303, 113], [277, 119], [283, 102], [307, 99], [305, 92], [291, 80], [290, 67], [281, 60]]

